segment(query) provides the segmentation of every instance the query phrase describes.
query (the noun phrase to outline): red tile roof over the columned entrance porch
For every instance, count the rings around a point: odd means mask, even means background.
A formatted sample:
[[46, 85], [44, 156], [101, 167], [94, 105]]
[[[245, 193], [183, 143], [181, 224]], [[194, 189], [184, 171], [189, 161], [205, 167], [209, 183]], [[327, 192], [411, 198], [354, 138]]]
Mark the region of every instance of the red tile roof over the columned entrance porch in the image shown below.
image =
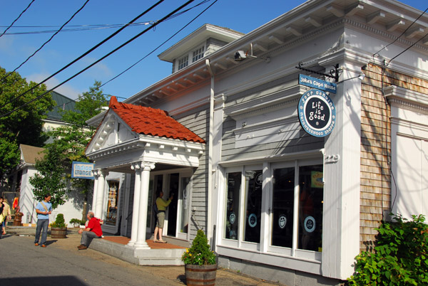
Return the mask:
[[118, 102], [114, 96], [108, 107], [138, 134], [205, 143], [204, 139], [168, 116], [164, 110]]

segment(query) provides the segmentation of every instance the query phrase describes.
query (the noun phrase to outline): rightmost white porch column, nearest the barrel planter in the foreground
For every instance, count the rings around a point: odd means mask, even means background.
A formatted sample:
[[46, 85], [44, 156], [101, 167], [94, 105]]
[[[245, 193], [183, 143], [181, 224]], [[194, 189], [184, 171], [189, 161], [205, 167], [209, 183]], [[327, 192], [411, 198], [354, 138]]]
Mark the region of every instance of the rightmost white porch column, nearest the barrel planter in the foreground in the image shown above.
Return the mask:
[[141, 162], [141, 195], [140, 211], [138, 212], [138, 232], [136, 248], [149, 248], [146, 243], [147, 207], [148, 207], [148, 184], [150, 182], [150, 171], [155, 168], [154, 163]]

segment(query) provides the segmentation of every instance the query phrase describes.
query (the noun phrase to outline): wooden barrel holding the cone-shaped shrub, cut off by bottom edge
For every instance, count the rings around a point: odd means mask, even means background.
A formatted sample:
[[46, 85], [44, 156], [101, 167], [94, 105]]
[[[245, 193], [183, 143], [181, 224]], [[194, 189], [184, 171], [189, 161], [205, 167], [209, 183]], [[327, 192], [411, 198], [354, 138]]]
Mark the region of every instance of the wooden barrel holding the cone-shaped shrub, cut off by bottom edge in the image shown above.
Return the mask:
[[185, 283], [188, 286], [215, 285], [217, 264], [214, 265], [185, 265]]

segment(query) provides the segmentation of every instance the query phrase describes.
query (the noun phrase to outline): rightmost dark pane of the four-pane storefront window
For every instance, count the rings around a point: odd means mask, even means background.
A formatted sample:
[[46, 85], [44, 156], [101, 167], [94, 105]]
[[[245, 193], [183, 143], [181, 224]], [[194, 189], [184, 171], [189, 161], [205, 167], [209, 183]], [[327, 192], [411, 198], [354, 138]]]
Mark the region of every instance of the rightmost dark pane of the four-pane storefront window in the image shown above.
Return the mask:
[[299, 239], [297, 248], [322, 251], [322, 165], [299, 169]]

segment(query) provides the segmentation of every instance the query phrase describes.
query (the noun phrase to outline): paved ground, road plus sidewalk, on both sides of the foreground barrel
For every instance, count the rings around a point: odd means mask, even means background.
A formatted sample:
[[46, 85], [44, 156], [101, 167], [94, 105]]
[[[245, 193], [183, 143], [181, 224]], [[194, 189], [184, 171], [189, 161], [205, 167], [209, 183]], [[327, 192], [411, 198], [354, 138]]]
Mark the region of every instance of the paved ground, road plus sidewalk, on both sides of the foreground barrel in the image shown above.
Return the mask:
[[[48, 236], [47, 248], [34, 246], [34, 228], [6, 231], [0, 240], [0, 286], [185, 285], [183, 266], [134, 265], [96, 250], [77, 250], [81, 235], [76, 231], [65, 239]], [[218, 269], [215, 285], [280, 284]]]

